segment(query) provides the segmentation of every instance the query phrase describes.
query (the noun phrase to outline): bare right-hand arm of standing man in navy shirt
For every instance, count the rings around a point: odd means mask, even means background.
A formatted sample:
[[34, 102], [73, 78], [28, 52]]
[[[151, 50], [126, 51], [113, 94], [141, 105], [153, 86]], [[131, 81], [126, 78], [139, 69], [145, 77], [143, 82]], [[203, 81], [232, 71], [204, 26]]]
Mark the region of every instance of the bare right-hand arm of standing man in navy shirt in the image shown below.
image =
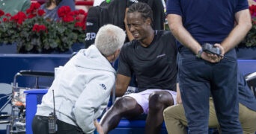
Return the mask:
[[252, 18], [249, 10], [241, 10], [235, 14], [237, 25], [222, 42], [224, 51], [227, 52], [239, 44], [252, 28]]

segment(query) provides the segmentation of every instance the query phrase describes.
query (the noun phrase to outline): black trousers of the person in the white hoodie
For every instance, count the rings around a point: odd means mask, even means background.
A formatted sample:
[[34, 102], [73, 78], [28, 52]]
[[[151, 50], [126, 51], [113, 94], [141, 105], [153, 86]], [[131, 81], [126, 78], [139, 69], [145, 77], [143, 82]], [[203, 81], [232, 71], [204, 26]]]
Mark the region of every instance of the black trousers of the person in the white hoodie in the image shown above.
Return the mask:
[[[57, 120], [58, 131], [56, 134], [84, 134], [81, 128]], [[48, 134], [48, 117], [35, 115], [32, 122], [33, 134]]]

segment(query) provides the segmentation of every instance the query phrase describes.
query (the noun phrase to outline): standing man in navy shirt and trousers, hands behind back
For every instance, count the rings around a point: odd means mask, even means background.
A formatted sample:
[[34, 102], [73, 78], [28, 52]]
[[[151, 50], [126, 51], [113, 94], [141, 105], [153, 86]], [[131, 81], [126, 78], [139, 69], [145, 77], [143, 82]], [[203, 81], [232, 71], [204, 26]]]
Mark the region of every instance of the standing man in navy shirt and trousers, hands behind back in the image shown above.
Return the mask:
[[[178, 41], [178, 77], [190, 133], [208, 133], [210, 93], [222, 133], [243, 133], [234, 47], [252, 28], [248, 1], [168, 0], [166, 7]], [[202, 51], [206, 42], [219, 48], [221, 56]]]

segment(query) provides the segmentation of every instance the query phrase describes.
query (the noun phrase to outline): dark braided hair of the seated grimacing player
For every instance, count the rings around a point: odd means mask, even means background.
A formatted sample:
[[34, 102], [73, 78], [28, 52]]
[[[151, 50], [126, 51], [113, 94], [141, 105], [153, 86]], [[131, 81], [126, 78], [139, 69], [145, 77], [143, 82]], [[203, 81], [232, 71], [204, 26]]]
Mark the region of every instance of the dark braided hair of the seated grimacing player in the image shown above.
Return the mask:
[[129, 10], [127, 11], [127, 13], [133, 13], [133, 12], [141, 13], [142, 19], [145, 20], [147, 18], [150, 18], [151, 22], [153, 22], [153, 11], [147, 3], [138, 2], [138, 3], [132, 4], [131, 6], [129, 6]]

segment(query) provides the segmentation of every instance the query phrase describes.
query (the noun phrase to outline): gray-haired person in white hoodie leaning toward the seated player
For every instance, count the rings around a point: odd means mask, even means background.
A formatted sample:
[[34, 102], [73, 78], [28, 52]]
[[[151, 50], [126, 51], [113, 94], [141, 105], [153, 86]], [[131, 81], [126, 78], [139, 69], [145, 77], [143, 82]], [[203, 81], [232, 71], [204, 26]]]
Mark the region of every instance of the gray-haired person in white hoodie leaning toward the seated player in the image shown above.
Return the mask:
[[109, 102], [115, 83], [113, 62], [124, 44], [125, 32], [114, 25], [100, 28], [95, 45], [80, 50], [58, 72], [57, 77], [37, 105], [32, 130], [48, 134], [48, 117], [53, 112], [53, 95], [59, 134], [94, 133], [100, 131], [97, 118]]

